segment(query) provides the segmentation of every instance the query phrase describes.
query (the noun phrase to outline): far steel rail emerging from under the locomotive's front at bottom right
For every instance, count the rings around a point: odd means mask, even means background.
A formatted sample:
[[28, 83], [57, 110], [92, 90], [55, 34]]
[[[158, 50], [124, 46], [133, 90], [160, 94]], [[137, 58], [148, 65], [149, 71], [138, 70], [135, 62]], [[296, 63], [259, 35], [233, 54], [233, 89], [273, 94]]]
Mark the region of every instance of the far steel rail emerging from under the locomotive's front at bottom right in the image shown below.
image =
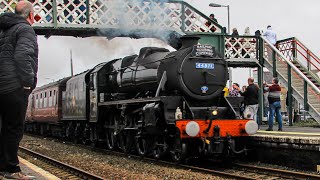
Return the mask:
[[288, 170], [282, 170], [282, 169], [274, 169], [274, 168], [267, 168], [267, 167], [258, 167], [255, 165], [248, 165], [248, 164], [242, 164], [242, 163], [233, 163], [233, 165], [241, 168], [249, 169], [249, 171], [263, 171], [265, 173], [272, 174], [280, 174], [281, 177], [286, 178], [294, 178], [294, 179], [320, 179], [320, 175], [316, 174], [307, 174], [302, 172], [295, 172], [295, 171], [288, 171]]

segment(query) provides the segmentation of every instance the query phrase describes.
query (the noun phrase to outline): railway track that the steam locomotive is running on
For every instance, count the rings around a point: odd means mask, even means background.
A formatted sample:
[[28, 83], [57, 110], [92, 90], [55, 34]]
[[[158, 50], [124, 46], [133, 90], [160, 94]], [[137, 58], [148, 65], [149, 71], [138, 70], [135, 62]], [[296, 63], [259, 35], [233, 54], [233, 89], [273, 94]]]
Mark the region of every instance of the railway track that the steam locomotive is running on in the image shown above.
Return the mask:
[[[37, 137], [37, 136], [33, 136], [33, 137]], [[67, 144], [74, 145], [72, 143], [67, 143]], [[242, 164], [242, 163], [233, 163], [231, 164], [230, 168], [229, 167], [221, 168], [219, 166], [212, 166], [212, 164], [215, 164], [212, 162], [211, 163], [207, 162], [205, 164], [203, 163], [193, 164], [193, 165], [176, 164], [176, 163], [172, 163], [165, 160], [156, 160], [148, 157], [141, 158], [140, 156], [134, 155], [134, 154], [126, 154], [118, 151], [105, 150], [101, 148], [92, 148], [90, 146], [85, 146], [85, 145], [77, 144], [76, 146], [80, 148], [86, 148], [86, 149], [94, 150], [97, 152], [105, 153], [105, 154], [113, 154], [113, 155], [118, 155], [123, 157], [130, 157], [131, 159], [137, 159], [147, 163], [170, 166], [173, 168], [181, 168], [181, 169], [191, 170], [194, 172], [202, 172], [205, 174], [211, 174], [214, 176], [220, 176], [228, 179], [246, 179], [246, 180], [247, 179], [248, 180], [249, 179], [320, 179], [320, 175], [316, 175], [316, 174], [307, 174], [307, 173], [301, 173], [296, 171], [260, 167], [260, 166]], [[101, 177], [98, 177], [98, 178], [101, 178]], [[96, 178], [88, 178], [88, 179], [96, 179]]]

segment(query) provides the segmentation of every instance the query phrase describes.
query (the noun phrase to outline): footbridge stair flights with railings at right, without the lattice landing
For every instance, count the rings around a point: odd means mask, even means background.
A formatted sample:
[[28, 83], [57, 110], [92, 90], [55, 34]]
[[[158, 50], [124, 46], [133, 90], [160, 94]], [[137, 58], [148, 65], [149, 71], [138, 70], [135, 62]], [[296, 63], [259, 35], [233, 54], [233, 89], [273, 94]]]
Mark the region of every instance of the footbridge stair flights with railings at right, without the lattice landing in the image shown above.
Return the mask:
[[288, 87], [289, 97], [320, 123], [320, 59], [297, 38], [280, 40], [276, 46], [263, 37], [262, 41], [265, 67]]

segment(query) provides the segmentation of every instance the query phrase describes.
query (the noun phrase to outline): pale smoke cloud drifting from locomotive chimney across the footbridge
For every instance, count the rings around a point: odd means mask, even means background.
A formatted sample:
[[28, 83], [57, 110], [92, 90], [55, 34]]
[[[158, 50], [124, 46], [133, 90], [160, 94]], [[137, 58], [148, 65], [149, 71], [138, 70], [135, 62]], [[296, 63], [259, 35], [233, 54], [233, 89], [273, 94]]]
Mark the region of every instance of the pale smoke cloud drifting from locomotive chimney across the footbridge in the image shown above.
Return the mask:
[[[180, 35], [173, 30], [164, 28], [177, 21], [177, 16], [171, 14], [172, 8], [178, 11], [174, 4], [166, 4], [168, 0], [118, 0], [104, 1], [101, 7], [107, 7], [108, 13], [98, 15], [106, 28], [99, 29], [100, 36], [158, 38], [168, 44]], [[170, 8], [168, 8], [170, 6]], [[170, 15], [169, 15], [170, 14]], [[172, 16], [172, 17], [171, 17]], [[172, 24], [170, 25], [172, 26]], [[110, 28], [112, 27], [112, 28]]]

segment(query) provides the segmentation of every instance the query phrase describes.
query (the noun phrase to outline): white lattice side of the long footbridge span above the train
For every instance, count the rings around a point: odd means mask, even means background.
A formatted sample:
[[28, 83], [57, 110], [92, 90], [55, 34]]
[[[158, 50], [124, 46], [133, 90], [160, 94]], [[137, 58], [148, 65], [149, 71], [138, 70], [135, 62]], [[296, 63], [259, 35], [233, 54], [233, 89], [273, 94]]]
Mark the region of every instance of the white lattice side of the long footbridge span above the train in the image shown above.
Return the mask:
[[[0, 13], [18, 0], [2, 0]], [[182, 32], [222, 32], [222, 27], [183, 1], [35, 0], [37, 26], [170, 28]], [[56, 17], [57, 19], [53, 19]]]

